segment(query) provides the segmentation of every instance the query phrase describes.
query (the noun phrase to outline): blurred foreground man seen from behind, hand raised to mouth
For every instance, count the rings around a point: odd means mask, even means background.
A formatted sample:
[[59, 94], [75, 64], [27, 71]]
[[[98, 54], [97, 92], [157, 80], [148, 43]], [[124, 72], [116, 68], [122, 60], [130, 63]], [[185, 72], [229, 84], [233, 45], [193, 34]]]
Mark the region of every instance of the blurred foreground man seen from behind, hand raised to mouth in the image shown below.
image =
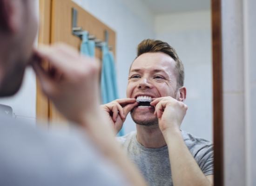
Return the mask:
[[101, 117], [96, 61], [67, 45], [33, 51], [34, 2], [0, 0], [0, 96], [15, 94], [32, 65], [43, 92], [76, 127], [45, 132], [0, 115], [0, 185], [145, 186]]

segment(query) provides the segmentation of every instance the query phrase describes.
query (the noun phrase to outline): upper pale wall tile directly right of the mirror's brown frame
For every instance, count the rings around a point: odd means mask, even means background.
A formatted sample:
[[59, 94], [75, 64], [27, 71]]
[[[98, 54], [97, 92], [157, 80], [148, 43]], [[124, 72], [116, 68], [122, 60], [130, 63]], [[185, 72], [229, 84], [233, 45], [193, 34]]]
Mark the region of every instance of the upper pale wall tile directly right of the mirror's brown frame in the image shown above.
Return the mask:
[[240, 0], [222, 2], [224, 92], [243, 91], [243, 10]]

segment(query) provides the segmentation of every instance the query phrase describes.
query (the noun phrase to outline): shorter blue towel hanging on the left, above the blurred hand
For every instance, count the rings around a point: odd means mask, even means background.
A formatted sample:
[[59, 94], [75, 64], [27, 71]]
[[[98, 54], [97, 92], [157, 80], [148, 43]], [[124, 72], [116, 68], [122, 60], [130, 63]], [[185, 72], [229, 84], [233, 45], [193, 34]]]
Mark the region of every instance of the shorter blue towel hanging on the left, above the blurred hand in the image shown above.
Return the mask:
[[89, 56], [94, 57], [95, 56], [95, 42], [94, 40], [89, 40], [89, 33], [84, 31], [82, 33], [82, 43], [80, 46], [80, 53]]

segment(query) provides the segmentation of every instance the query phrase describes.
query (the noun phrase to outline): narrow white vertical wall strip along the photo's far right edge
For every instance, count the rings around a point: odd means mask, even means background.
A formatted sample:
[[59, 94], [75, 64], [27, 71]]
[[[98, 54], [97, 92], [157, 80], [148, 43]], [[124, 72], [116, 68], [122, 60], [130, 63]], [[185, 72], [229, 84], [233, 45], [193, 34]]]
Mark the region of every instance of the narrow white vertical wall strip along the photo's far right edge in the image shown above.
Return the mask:
[[246, 49], [247, 49], [247, 183], [248, 186], [256, 186], [256, 1], [244, 0]]

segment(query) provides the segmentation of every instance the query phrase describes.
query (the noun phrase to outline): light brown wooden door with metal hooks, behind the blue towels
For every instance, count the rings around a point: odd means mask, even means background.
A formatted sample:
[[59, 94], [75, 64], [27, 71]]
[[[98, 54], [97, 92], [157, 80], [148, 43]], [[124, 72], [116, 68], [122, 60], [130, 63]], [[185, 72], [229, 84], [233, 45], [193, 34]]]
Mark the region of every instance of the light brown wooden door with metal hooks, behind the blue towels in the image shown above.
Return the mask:
[[[112, 46], [115, 55], [115, 32], [72, 0], [40, 0], [39, 44], [64, 42], [79, 50], [81, 39], [72, 34], [72, 8], [77, 10], [77, 26], [88, 31], [90, 35], [104, 41], [105, 31], [108, 31], [108, 44]], [[96, 48], [95, 56], [101, 59], [99, 48]], [[37, 93], [37, 117], [48, 120], [51, 125], [67, 125], [65, 118], [40, 91]]]

